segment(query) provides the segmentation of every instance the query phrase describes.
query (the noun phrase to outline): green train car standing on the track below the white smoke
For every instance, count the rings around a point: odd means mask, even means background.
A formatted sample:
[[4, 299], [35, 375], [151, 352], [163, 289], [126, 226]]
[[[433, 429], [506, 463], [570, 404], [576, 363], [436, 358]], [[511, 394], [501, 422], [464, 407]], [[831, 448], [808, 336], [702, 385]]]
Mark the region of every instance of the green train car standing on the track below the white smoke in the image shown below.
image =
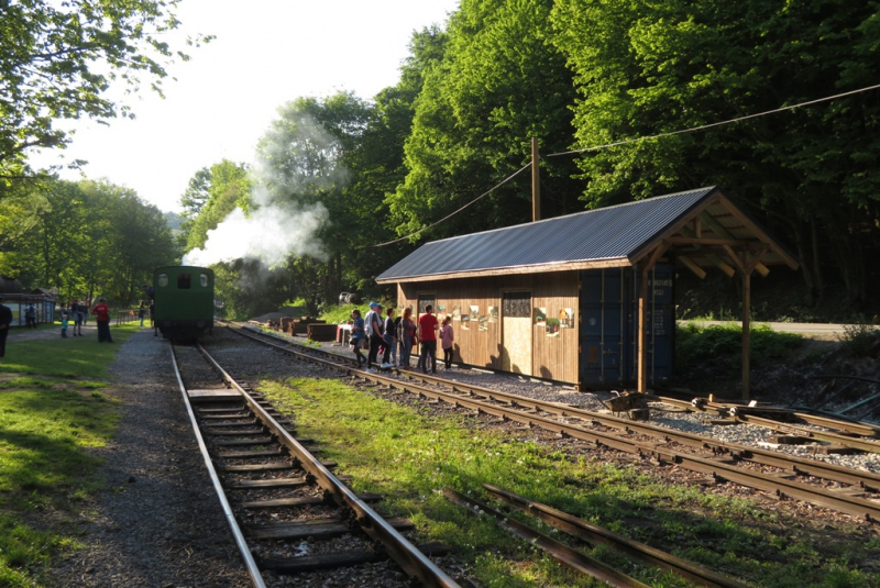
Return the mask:
[[158, 267], [153, 273], [153, 324], [170, 340], [196, 340], [213, 330], [213, 270]]

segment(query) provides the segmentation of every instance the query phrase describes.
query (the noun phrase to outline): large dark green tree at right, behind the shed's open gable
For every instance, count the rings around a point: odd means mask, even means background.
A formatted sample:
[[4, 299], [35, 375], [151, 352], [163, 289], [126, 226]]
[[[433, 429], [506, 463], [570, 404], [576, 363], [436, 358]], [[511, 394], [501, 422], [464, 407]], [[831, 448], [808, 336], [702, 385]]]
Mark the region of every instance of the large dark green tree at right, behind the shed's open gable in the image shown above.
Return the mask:
[[[876, 84], [876, 1], [662, 3], [561, 0], [553, 42], [575, 74], [576, 147], [769, 111]], [[839, 269], [867, 299], [877, 246], [876, 92], [736, 124], [588, 151], [578, 164], [587, 207], [663, 189], [724, 186], [798, 246], [807, 291]]]

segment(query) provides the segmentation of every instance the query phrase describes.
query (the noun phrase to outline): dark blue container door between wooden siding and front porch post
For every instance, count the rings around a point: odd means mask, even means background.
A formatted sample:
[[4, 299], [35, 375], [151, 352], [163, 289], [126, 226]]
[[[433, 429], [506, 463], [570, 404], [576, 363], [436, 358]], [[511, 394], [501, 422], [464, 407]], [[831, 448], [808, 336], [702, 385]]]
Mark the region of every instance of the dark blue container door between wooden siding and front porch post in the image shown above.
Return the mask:
[[581, 384], [619, 386], [625, 377], [625, 280], [619, 268], [581, 273]]

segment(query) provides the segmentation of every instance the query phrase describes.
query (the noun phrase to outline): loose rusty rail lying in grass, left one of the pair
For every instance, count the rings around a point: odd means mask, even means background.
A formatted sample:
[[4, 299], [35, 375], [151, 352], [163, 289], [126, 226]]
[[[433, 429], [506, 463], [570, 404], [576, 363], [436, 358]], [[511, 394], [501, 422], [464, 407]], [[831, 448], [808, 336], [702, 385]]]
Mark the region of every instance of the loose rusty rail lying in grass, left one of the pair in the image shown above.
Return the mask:
[[530, 526], [520, 523], [515, 519], [510, 519], [502, 512], [493, 509], [479, 500], [475, 500], [466, 495], [463, 495], [452, 488], [443, 488], [443, 496], [450, 501], [464, 508], [471, 514], [488, 514], [498, 521], [501, 526], [506, 528], [513, 534], [528, 541], [531, 545], [540, 548], [557, 562], [580, 572], [582, 574], [592, 576], [609, 586], [616, 588], [650, 588], [647, 584], [642, 584], [636, 578], [624, 574], [613, 567], [603, 564], [598, 559], [593, 559], [578, 550], [569, 547], [554, 539], [543, 535]]

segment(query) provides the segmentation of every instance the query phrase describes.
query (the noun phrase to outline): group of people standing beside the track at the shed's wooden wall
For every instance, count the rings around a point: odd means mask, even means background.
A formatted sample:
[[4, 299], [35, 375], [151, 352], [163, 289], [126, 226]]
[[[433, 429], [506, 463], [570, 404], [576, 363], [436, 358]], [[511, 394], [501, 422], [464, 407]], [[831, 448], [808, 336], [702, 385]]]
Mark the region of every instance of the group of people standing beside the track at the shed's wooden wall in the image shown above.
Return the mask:
[[[437, 374], [437, 340], [443, 347], [443, 363], [447, 369], [452, 369], [452, 342], [455, 339], [452, 331], [452, 319], [447, 317], [442, 326], [433, 315], [433, 307], [428, 304], [425, 314], [416, 321], [413, 319], [413, 309], [406, 308], [400, 317], [395, 318], [395, 309], [388, 309], [382, 318], [382, 304], [370, 302], [370, 312], [361, 317], [361, 311], [351, 311], [351, 348], [358, 359], [358, 367], [366, 365], [367, 371], [375, 371], [373, 366], [382, 354], [381, 367], [386, 369], [392, 366], [409, 368], [410, 355], [415, 345], [420, 346], [417, 367], [422, 373], [428, 373], [430, 363], [431, 373]], [[369, 347], [364, 357], [361, 351]], [[399, 353], [398, 353], [399, 350]], [[399, 358], [399, 362], [398, 362]]]

